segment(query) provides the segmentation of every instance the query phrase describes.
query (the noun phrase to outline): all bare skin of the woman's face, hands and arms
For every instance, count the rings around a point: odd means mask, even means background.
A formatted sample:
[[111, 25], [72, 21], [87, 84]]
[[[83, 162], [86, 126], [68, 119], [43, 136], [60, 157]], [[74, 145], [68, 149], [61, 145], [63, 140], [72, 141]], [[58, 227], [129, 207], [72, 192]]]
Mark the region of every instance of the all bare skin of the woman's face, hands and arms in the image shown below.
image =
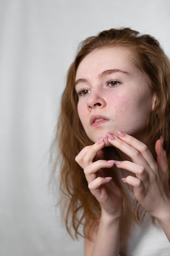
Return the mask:
[[[144, 75], [130, 61], [131, 57], [127, 49], [120, 47], [97, 49], [88, 54], [77, 69], [77, 110], [94, 144], [83, 148], [75, 160], [84, 169], [88, 187], [102, 209], [98, 228], [90, 230], [91, 240], [85, 239], [86, 256], [119, 255], [123, 198], [114, 180], [104, 171], [114, 164], [124, 175], [122, 182], [128, 184], [141, 206], [159, 220], [170, 240], [170, 200], [161, 183], [167, 166], [163, 141], [160, 138], [155, 145], [157, 162], [144, 144], [146, 120], [155, 106], [156, 94], [150, 91]], [[121, 72], [110, 74], [106, 70]], [[94, 162], [106, 146], [116, 148], [123, 161], [99, 159]]]

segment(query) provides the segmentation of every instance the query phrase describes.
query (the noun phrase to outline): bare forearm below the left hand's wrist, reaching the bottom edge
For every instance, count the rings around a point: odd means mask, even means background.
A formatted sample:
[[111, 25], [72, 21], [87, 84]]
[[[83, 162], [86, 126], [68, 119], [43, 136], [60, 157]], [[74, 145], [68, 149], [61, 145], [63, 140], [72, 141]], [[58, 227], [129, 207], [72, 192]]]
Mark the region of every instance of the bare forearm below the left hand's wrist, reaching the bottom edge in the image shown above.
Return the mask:
[[85, 251], [85, 256], [118, 256], [120, 243], [119, 223], [118, 219], [114, 220], [102, 215], [91, 254], [89, 254], [89, 251]]

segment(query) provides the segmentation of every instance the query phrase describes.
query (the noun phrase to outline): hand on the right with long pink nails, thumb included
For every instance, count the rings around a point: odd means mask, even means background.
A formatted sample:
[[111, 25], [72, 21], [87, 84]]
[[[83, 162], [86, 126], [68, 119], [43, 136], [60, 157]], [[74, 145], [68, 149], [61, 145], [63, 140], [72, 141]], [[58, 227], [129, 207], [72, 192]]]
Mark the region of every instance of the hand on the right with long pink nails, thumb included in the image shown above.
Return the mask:
[[148, 147], [134, 137], [119, 132], [118, 138], [108, 134], [110, 144], [121, 150], [130, 161], [117, 161], [117, 167], [135, 174], [124, 177], [124, 183], [133, 186], [135, 198], [153, 217], [160, 219], [169, 214], [170, 199], [162, 186], [162, 176], [167, 168], [167, 157], [159, 139], [155, 145], [157, 162]]

